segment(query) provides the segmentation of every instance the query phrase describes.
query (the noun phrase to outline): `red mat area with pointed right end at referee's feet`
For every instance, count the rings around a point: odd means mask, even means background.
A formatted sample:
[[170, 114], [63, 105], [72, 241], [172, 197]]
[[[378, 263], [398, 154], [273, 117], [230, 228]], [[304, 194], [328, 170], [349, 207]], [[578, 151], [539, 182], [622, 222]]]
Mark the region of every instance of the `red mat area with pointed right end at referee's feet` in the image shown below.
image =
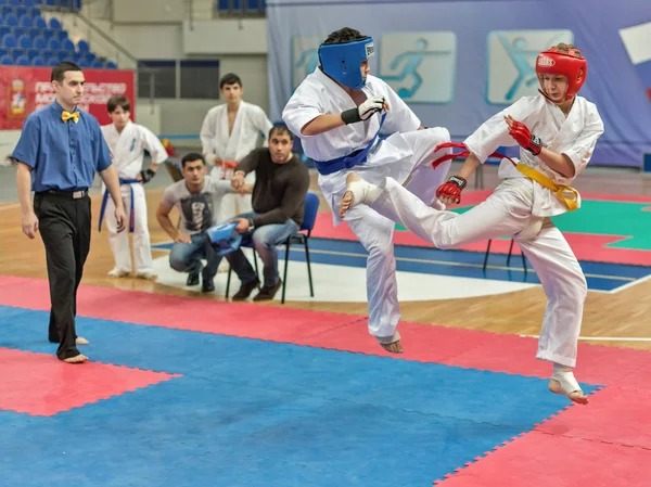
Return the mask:
[[0, 410], [42, 416], [180, 377], [93, 361], [69, 366], [50, 354], [9, 348], [0, 348]]

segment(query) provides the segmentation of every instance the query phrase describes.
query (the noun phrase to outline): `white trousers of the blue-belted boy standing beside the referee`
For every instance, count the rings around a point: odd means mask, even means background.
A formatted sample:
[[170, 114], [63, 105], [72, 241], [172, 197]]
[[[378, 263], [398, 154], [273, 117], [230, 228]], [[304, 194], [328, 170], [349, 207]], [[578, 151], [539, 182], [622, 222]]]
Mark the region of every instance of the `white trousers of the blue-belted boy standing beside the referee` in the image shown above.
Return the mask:
[[[146, 200], [142, 184], [122, 184], [119, 187], [119, 192], [125, 202], [125, 214], [127, 215], [126, 228], [120, 233], [117, 233], [115, 204], [111, 196], [107, 198], [104, 221], [106, 222], [106, 230], [108, 230], [108, 243], [115, 258], [115, 267], [118, 270], [131, 272], [131, 252], [129, 251], [130, 187], [133, 188], [133, 260], [136, 272], [153, 272], [152, 247], [149, 227], [146, 225]], [[105, 188], [104, 191], [106, 191]]]

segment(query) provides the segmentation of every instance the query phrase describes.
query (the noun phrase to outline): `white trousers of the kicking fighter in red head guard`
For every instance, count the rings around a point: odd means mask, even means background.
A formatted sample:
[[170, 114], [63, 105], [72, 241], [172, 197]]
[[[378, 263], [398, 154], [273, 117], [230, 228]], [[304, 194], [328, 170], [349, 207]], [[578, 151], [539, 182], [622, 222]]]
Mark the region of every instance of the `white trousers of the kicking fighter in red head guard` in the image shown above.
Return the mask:
[[[538, 359], [576, 364], [576, 347], [587, 283], [563, 234], [549, 218], [532, 216], [534, 181], [507, 179], [480, 205], [459, 215], [434, 209], [386, 178], [370, 205], [438, 248], [451, 248], [498, 236], [515, 239], [547, 295], [538, 339]], [[361, 205], [365, 207], [363, 205]]]

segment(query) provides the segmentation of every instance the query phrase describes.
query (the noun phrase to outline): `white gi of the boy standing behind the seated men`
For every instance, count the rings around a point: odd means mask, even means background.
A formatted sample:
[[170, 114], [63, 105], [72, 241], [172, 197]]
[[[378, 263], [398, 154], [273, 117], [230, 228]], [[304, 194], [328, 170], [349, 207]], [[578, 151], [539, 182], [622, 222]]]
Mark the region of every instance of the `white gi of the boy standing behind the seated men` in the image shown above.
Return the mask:
[[[238, 115], [229, 136], [228, 110], [226, 104], [210, 108], [201, 127], [202, 152], [208, 164], [215, 157], [225, 162], [240, 162], [256, 148], [260, 132], [265, 137], [265, 146], [268, 145], [267, 136], [273, 124], [269, 120], [263, 108], [246, 102], [240, 102]], [[210, 176], [216, 179], [231, 179], [233, 170], [226, 171], [220, 165], [215, 165]], [[255, 174], [246, 175], [247, 183], [255, 182]], [[227, 194], [217, 209], [217, 221], [221, 222], [234, 217], [238, 213], [253, 212], [251, 194]]]

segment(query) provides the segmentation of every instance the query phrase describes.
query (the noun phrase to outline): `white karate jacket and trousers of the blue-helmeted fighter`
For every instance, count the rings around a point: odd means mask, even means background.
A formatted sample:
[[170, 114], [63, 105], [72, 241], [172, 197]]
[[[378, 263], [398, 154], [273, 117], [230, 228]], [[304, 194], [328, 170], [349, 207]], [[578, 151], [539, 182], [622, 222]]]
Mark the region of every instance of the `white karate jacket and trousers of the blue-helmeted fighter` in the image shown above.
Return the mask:
[[[319, 175], [319, 185], [333, 210], [335, 225], [342, 196], [346, 191], [346, 175], [359, 172], [370, 182], [392, 177], [405, 182], [413, 172], [407, 188], [430, 204], [435, 200], [436, 188], [445, 180], [450, 163], [433, 170], [429, 163], [447, 154], [449, 150], [434, 152], [434, 148], [450, 141], [445, 128], [418, 130], [421, 123], [405, 102], [381, 79], [368, 76], [362, 91], [368, 98], [384, 97], [390, 110], [382, 127], [391, 136], [376, 142], [366, 163], [350, 170]], [[301, 134], [302, 128], [322, 114], [339, 114], [355, 108], [353, 99], [320, 68], [307, 76], [298, 86], [282, 118], [303, 142], [303, 150], [315, 161], [327, 162], [349, 155], [373, 139], [380, 127], [381, 115], [366, 121], [349, 124], [317, 136]], [[367, 261], [367, 297], [369, 302], [369, 332], [382, 343], [399, 337], [396, 326], [400, 320], [396, 260], [393, 252], [394, 222], [379, 216], [367, 206], [356, 206], [346, 213], [346, 221], [369, 252]]]

